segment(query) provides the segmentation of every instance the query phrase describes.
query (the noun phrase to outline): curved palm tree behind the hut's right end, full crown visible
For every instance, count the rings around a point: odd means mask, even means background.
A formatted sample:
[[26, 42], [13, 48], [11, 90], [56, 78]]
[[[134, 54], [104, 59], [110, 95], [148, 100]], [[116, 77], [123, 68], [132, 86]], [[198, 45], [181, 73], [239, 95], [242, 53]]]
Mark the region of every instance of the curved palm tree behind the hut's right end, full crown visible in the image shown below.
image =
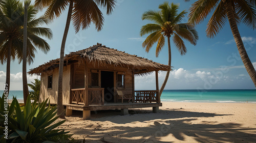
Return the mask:
[[[140, 36], [151, 33], [142, 43], [142, 47], [145, 48], [146, 52], [149, 52], [152, 46], [157, 42], [156, 56], [158, 57], [159, 52], [164, 47], [165, 37], [167, 37], [169, 54], [168, 65], [171, 66], [172, 54], [170, 50], [170, 37], [173, 37], [173, 42], [180, 54], [184, 55], [187, 52], [187, 48], [182, 38], [189, 41], [191, 44], [196, 45], [198, 33], [193, 25], [189, 23], [180, 23], [187, 12], [184, 10], [178, 14], [178, 5], [173, 3], [169, 5], [168, 2], [164, 2], [159, 5], [158, 8], [160, 11], [149, 10], [142, 15], [142, 20], [146, 19], [155, 22], [142, 26]], [[168, 80], [169, 73], [170, 71], [167, 71], [162, 87], [160, 88], [160, 96]]]

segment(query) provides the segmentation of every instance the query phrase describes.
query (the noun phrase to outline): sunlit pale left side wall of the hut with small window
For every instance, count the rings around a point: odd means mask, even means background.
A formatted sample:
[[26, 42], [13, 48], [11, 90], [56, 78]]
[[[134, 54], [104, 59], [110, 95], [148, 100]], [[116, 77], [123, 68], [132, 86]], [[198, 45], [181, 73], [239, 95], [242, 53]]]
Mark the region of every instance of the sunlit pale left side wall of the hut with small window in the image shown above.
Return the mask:
[[[70, 98], [70, 65], [63, 68], [63, 82], [62, 94], [63, 104], [69, 104]], [[52, 89], [47, 89], [48, 76], [52, 75]], [[48, 97], [50, 103], [57, 104], [57, 91], [58, 91], [58, 68], [41, 73], [41, 89], [39, 101], [42, 102]]]

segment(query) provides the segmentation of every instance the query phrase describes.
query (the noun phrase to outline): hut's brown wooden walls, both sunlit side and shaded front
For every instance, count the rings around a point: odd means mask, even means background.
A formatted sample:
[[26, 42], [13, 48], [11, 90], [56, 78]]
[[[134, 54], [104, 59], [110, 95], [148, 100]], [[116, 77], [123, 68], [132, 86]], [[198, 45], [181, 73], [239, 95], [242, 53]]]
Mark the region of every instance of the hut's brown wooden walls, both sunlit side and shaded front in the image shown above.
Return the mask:
[[[99, 80], [101, 71], [112, 71], [114, 72], [114, 101], [117, 102], [117, 90], [121, 90], [123, 94], [134, 94], [133, 93], [133, 70], [128, 68], [113, 67], [111, 65], [101, 66], [96, 63], [86, 63], [88, 72], [88, 88], [91, 88], [91, 71], [96, 70], [99, 72]], [[125, 74], [125, 87], [117, 88], [117, 73], [122, 72]], [[71, 77], [71, 73], [73, 73]], [[47, 89], [48, 76], [53, 75], [53, 85], [52, 89]], [[71, 81], [70, 81], [71, 80]], [[72, 89], [84, 88], [84, 63], [75, 63], [73, 65], [65, 66], [63, 69], [63, 104], [69, 104], [70, 102], [70, 86]], [[39, 101], [46, 100], [48, 97], [52, 104], [57, 104], [57, 89], [58, 89], [58, 68], [49, 70], [47, 72], [41, 73], [41, 90]], [[95, 87], [94, 87], [95, 88]], [[101, 88], [101, 83], [99, 81], [99, 87]], [[120, 102], [120, 101], [119, 101]]]

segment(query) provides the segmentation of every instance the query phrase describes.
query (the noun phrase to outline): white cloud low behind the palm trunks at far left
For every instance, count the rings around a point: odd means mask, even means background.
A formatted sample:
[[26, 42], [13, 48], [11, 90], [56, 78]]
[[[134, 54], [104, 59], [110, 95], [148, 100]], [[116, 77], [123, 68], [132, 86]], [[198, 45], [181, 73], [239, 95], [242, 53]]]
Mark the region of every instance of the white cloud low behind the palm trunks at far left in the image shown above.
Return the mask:
[[[40, 79], [40, 76], [37, 77]], [[36, 76], [28, 76], [28, 83], [34, 82]], [[6, 82], [6, 72], [0, 71], [0, 90], [4, 90], [4, 83]], [[10, 74], [10, 90], [23, 90], [22, 84], [22, 72], [18, 72], [16, 74]], [[30, 90], [30, 89], [29, 89]]]

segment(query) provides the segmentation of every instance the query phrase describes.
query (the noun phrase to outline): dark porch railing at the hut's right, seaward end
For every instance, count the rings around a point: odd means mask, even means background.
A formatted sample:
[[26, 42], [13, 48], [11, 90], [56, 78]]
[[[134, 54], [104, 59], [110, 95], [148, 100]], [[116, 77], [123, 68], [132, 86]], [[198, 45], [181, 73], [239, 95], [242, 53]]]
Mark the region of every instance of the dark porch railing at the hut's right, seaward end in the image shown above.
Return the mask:
[[159, 91], [135, 91], [135, 102], [141, 103], [160, 103]]

